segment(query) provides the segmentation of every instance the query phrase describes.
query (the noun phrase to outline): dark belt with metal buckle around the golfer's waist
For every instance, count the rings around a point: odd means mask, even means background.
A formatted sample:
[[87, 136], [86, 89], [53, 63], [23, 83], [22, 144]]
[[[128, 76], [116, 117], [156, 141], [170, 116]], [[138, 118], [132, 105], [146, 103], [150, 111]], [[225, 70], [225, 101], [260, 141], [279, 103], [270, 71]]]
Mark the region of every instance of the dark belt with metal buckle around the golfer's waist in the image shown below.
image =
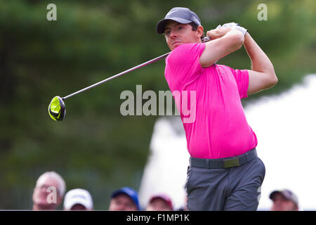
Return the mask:
[[240, 165], [254, 160], [255, 158], [258, 158], [256, 148], [251, 149], [242, 155], [230, 158], [202, 159], [190, 157], [190, 165], [193, 167], [202, 167], [205, 169], [223, 169], [230, 167], [239, 167]]

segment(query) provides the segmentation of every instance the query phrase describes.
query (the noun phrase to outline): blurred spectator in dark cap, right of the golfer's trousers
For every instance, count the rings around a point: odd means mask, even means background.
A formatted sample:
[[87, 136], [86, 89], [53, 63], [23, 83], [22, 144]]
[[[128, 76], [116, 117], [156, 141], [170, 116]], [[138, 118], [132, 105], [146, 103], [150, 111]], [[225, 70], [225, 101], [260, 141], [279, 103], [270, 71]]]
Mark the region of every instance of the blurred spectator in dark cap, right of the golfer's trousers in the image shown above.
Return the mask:
[[287, 189], [273, 191], [270, 199], [273, 202], [271, 211], [298, 211], [298, 198]]

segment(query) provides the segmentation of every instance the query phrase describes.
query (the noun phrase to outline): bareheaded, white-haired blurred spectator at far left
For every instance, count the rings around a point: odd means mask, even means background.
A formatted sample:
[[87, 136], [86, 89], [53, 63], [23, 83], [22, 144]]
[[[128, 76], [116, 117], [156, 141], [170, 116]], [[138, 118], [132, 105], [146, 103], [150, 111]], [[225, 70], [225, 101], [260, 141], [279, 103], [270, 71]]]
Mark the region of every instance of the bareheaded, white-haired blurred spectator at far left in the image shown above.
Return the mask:
[[33, 191], [33, 210], [55, 210], [65, 194], [66, 184], [56, 172], [45, 172], [37, 179]]

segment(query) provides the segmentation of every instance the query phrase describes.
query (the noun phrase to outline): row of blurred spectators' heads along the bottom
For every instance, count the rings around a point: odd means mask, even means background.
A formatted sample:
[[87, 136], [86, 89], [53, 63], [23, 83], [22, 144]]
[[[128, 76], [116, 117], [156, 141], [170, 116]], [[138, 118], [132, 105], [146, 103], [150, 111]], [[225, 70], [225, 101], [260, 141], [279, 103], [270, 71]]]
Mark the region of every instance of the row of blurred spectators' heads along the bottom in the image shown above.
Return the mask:
[[[122, 187], [112, 192], [110, 196], [110, 211], [145, 210], [145, 211], [180, 211], [187, 210], [183, 205], [174, 208], [169, 195], [154, 193], [145, 208], [141, 208], [138, 192], [131, 187]], [[290, 190], [277, 190], [270, 193], [271, 211], [298, 211], [298, 198]], [[62, 176], [56, 172], [45, 172], [37, 179], [33, 195], [32, 210], [56, 210], [62, 205], [63, 210], [94, 210], [93, 198], [89, 191], [74, 188], [66, 192], [66, 184]]]

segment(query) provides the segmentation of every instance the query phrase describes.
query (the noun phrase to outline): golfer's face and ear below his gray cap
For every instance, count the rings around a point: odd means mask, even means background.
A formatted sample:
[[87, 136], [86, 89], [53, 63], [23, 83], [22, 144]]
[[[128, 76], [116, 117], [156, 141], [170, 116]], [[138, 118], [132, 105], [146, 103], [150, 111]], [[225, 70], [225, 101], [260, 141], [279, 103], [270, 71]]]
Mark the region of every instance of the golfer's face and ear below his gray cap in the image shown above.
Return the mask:
[[178, 23], [173, 20], [168, 21], [164, 27], [164, 37], [166, 37], [166, 42], [171, 51], [176, 49], [180, 44], [202, 43], [202, 34], [202, 26], [199, 26], [194, 31], [191, 25]]

